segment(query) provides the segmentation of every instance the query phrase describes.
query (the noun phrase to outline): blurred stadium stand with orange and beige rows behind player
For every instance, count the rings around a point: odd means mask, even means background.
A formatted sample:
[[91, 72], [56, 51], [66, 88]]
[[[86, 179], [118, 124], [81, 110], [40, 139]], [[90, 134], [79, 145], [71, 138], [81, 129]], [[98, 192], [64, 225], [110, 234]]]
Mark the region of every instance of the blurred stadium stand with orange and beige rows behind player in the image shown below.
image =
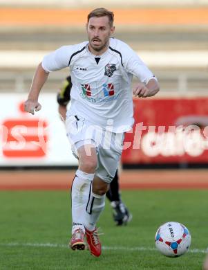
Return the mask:
[[[148, 5], [130, 0], [127, 9], [125, 1], [105, 1], [115, 11], [115, 37], [130, 44], [151, 66], [164, 96], [178, 91], [207, 93], [207, 5], [205, 0], [149, 0]], [[95, 1], [0, 0], [0, 6], [0, 92], [19, 92], [28, 91], [44, 53], [86, 37], [84, 14]], [[51, 75], [45, 90], [57, 91], [66, 74]]]

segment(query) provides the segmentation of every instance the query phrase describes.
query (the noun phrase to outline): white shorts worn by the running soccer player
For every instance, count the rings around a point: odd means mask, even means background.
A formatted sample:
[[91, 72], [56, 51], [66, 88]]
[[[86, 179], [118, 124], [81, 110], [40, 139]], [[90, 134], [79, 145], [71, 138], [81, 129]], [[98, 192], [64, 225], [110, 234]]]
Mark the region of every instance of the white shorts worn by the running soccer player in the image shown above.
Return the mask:
[[[88, 123], [79, 116], [66, 118], [66, 133], [73, 154], [78, 158], [77, 150], [83, 145], [95, 145], [97, 150], [97, 168], [95, 176], [111, 183], [122, 154], [124, 133], [106, 131], [97, 125]], [[86, 147], [86, 154], [91, 154]]]

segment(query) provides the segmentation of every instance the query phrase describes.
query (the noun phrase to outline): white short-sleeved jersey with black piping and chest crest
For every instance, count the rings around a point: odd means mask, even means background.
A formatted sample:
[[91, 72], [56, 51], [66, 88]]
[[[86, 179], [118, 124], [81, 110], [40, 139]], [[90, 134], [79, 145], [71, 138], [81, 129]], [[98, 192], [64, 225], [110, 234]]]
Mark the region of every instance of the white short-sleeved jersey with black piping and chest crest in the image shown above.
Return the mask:
[[88, 42], [82, 42], [46, 55], [42, 66], [47, 72], [69, 66], [73, 87], [68, 115], [119, 133], [131, 129], [134, 122], [133, 75], [145, 84], [155, 78], [127, 44], [114, 38], [102, 55], [93, 55]]

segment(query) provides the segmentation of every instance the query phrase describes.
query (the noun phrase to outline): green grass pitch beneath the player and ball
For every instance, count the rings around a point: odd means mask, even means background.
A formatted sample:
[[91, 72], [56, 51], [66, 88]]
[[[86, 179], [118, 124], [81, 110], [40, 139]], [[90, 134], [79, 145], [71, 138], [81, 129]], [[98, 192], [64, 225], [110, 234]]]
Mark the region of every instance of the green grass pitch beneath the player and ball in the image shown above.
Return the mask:
[[[0, 192], [0, 269], [202, 269], [208, 246], [208, 190], [122, 191], [133, 220], [113, 223], [106, 208], [98, 226], [104, 247], [100, 258], [71, 251], [70, 196], [66, 191]], [[164, 222], [185, 224], [191, 249], [180, 258], [155, 250], [155, 231]]]

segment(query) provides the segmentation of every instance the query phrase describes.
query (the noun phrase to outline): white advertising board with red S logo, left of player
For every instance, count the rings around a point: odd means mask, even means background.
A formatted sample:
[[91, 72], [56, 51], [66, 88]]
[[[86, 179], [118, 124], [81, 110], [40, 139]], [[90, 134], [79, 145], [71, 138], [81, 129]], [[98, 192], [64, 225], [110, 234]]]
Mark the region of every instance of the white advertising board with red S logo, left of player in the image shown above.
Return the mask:
[[23, 111], [27, 93], [0, 93], [0, 166], [77, 165], [55, 93], [41, 93], [41, 111]]

